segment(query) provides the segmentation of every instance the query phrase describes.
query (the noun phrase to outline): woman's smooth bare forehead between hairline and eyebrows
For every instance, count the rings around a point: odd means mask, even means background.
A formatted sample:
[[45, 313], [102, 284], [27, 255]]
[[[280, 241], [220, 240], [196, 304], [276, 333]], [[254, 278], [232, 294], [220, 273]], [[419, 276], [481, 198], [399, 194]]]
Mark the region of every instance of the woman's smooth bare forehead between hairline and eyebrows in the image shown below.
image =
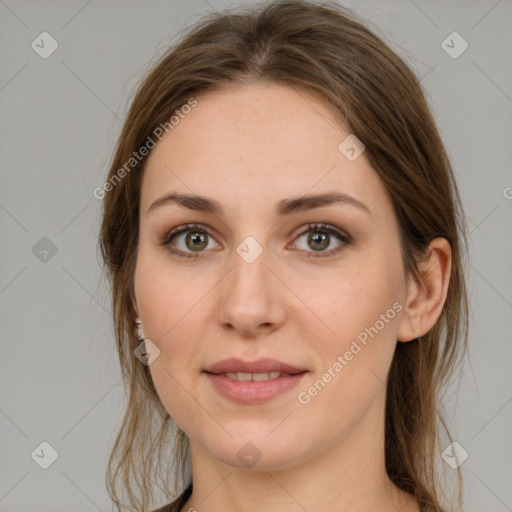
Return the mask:
[[340, 152], [350, 132], [318, 95], [272, 83], [227, 85], [196, 99], [148, 157], [143, 209], [171, 190], [215, 197], [237, 212], [308, 191], [348, 193], [370, 207], [383, 194], [364, 153], [349, 161]]

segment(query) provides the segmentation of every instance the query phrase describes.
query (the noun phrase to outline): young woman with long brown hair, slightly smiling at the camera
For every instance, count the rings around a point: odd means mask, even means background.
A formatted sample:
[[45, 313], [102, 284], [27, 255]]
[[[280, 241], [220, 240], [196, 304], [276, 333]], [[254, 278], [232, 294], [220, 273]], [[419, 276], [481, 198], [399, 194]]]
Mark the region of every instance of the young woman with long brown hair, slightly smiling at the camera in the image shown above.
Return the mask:
[[160, 512], [448, 510], [464, 214], [380, 38], [325, 2], [210, 15], [144, 79], [104, 191], [118, 510], [119, 486], [143, 511], [157, 487], [182, 490]]

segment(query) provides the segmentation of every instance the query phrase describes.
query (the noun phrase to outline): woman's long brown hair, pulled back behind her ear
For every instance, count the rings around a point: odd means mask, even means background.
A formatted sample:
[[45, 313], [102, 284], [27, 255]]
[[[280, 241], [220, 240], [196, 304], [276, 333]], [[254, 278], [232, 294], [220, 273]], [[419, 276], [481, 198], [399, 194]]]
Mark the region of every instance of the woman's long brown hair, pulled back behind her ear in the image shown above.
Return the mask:
[[[416, 264], [432, 239], [444, 237], [451, 245], [441, 316], [420, 340], [397, 343], [385, 411], [390, 479], [415, 496], [422, 511], [443, 510], [435, 470], [440, 425], [451, 437], [440, 392], [465, 354], [468, 337], [466, 222], [454, 174], [419, 79], [404, 60], [351, 11], [334, 2], [301, 0], [208, 14], [146, 75], [124, 121], [102, 189], [99, 236], [128, 395], [108, 463], [110, 496], [119, 511], [148, 510], [156, 487], [173, 497], [187, 483], [189, 455], [187, 436], [162, 406], [147, 366], [134, 356], [133, 278], [147, 157], [132, 156], [191, 99], [222, 84], [251, 82], [320, 95], [365, 144], [391, 197], [408, 273], [420, 279]], [[173, 470], [164, 467], [170, 460]], [[460, 503], [460, 471], [457, 476]]]

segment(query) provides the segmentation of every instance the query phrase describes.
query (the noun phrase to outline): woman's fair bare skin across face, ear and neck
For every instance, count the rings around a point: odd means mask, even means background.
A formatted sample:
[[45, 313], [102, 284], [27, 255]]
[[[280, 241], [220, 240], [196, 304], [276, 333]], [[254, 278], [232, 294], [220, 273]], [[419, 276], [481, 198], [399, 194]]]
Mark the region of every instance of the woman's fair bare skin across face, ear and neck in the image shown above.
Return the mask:
[[[390, 198], [364, 152], [339, 150], [350, 133], [328, 104], [283, 85], [223, 86], [152, 150], [141, 190], [134, 305], [144, 333], [160, 350], [149, 366], [159, 397], [190, 440], [194, 490], [183, 511], [419, 511], [385, 472], [385, 381], [398, 342], [424, 335], [438, 319], [449, 281], [448, 242], [435, 239], [420, 270], [405, 275]], [[175, 203], [149, 206], [168, 192], [218, 201], [224, 214]], [[283, 199], [325, 192], [349, 204], [280, 218]], [[309, 223], [352, 237], [330, 237], [325, 251], [308, 243]], [[171, 229], [198, 223], [208, 245], [194, 252]], [[192, 229], [194, 232], [194, 229]], [[304, 235], [302, 233], [305, 233]], [[246, 236], [263, 252], [252, 263], [236, 252]], [[192, 248], [191, 248], [192, 247]], [[305, 405], [308, 390], [394, 303], [401, 310]], [[300, 388], [264, 404], [241, 405], [217, 394], [202, 372], [228, 357], [272, 357], [309, 371]], [[261, 459], [237, 457], [251, 442]]]

